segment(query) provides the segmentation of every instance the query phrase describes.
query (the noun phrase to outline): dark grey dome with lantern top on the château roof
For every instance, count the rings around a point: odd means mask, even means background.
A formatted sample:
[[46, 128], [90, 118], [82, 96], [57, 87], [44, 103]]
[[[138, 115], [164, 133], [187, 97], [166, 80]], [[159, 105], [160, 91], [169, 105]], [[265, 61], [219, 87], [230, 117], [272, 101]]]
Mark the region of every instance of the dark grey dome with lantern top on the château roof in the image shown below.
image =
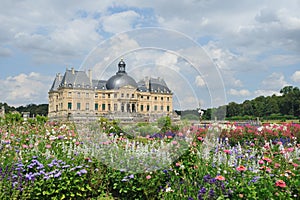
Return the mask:
[[126, 66], [125, 62], [121, 60], [118, 66], [119, 66], [119, 71], [116, 73], [116, 75], [108, 79], [108, 81], [106, 82], [106, 88], [108, 90], [112, 90], [112, 89], [119, 89], [127, 85], [137, 88], [138, 85], [136, 81], [131, 76], [128, 76], [125, 71], [125, 66]]

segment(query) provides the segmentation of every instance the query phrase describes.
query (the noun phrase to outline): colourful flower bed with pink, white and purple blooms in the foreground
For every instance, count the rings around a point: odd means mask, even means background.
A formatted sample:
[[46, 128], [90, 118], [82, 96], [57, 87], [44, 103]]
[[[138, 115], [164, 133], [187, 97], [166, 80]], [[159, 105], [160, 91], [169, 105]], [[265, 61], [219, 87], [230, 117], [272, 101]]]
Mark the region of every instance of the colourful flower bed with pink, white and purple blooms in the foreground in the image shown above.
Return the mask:
[[0, 199], [299, 198], [298, 124], [212, 127], [128, 138], [1, 122]]

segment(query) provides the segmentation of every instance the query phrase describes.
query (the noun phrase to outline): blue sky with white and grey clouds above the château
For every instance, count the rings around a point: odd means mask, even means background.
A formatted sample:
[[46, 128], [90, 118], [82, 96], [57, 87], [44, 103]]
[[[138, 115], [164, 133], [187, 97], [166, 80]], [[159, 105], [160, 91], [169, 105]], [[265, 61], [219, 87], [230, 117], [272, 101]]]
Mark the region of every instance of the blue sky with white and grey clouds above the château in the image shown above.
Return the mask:
[[121, 58], [161, 77], [174, 107], [280, 95], [300, 85], [298, 0], [1, 0], [0, 102], [48, 103], [57, 73], [108, 79]]

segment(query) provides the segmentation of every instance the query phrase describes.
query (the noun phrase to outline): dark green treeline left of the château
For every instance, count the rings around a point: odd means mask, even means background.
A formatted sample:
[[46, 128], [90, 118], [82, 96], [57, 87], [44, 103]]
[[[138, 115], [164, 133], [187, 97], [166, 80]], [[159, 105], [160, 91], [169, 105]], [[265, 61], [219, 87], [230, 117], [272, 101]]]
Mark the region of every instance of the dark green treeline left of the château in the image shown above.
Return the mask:
[[19, 107], [13, 107], [13, 106], [9, 106], [7, 103], [1, 103], [0, 102], [0, 108], [4, 106], [5, 108], [5, 113], [10, 113], [10, 112], [14, 112], [17, 111], [19, 113], [23, 113], [23, 112], [30, 112], [30, 117], [33, 116], [47, 116], [48, 115], [48, 104], [29, 104], [26, 106], [19, 106]]

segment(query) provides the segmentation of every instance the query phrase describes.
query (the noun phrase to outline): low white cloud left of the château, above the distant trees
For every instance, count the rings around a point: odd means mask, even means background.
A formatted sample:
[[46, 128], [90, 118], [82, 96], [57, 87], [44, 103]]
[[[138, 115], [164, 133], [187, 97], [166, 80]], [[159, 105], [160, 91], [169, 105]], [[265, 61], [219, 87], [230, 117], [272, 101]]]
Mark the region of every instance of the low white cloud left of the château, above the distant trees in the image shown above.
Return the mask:
[[39, 73], [19, 74], [0, 80], [0, 99], [10, 105], [20, 106], [33, 102], [48, 102], [47, 93], [53, 77]]

